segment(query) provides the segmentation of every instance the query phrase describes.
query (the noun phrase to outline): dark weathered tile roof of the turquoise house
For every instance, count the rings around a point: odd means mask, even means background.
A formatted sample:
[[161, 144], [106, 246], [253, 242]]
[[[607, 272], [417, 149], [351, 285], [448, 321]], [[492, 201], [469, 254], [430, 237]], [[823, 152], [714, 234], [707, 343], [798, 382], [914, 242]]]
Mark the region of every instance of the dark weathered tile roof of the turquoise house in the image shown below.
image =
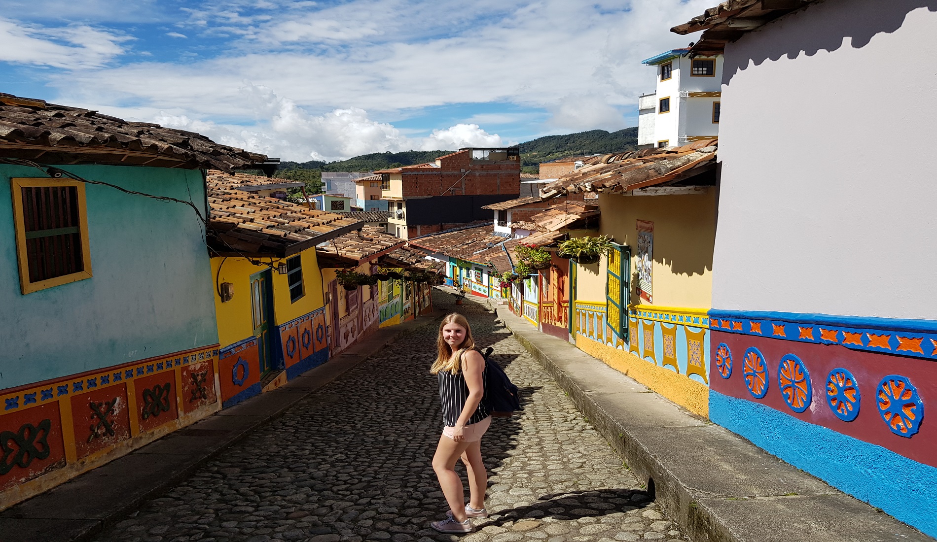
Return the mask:
[[0, 156], [28, 160], [39, 155], [47, 164], [145, 164], [223, 171], [267, 159], [195, 132], [0, 93]]

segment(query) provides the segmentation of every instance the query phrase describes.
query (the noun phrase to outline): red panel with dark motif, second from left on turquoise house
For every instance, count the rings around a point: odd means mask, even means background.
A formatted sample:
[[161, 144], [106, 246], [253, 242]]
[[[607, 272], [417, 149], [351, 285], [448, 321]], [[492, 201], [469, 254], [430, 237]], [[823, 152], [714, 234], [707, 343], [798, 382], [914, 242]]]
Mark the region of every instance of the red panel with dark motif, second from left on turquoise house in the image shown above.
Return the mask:
[[126, 385], [87, 391], [71, 398], [79, 459], [130, 438]]

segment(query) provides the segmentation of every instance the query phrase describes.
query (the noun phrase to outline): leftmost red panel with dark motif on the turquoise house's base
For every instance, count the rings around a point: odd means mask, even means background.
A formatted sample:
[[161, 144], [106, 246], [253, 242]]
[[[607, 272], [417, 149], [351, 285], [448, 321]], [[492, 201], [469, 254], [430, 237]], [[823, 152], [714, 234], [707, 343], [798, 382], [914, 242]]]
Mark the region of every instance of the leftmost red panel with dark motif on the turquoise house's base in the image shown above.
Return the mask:
[[0, 491], [65, 466], [57, 401], [0, 416]]

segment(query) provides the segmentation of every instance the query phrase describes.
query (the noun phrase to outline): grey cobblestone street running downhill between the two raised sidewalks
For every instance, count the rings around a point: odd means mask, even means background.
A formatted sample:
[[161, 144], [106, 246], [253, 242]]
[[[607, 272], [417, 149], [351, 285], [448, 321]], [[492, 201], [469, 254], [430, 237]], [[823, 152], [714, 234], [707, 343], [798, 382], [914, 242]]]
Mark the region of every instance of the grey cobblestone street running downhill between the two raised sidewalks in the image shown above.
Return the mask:
[[284, 416], [149, 501], [98, 542], [611, 542], [687, 540], [649, 502], [617, 453], [543, 368], [477, 303], [477, 344], [522, 388], [525, 410], [495, 418], [483, 439], [492, 517], [470, 535], [429, 528], [446, 505], [430, 459], [441, 416], [437, 326], [380, 351]]

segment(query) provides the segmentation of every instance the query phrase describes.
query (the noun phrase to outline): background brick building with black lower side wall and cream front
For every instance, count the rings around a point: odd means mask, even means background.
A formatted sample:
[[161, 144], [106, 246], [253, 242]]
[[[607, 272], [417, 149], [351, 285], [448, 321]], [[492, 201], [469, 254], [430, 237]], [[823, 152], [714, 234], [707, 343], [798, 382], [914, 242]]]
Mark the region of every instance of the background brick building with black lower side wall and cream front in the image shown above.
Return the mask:
[[381, 176], [381, 199], [388, 202], [388, 232], [409, 239], [490, 221], [484, 205], [520, 194], [520, 151], [468, 147], [435, 162], [375, 173]]

